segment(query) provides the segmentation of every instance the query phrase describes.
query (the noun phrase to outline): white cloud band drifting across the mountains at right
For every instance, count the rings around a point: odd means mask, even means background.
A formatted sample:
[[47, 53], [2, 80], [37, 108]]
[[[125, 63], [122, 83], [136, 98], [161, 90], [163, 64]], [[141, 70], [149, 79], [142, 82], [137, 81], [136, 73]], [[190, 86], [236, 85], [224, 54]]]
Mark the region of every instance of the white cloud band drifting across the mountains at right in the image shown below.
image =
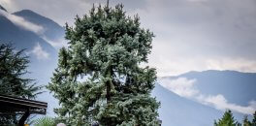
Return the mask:
[[244, 114], [252, 114], [256, 110], [256, 101], [249, 102], [247, 107], [229, 103], [221, 94], [206, 95], [196, 88], [196, 79], [158, 79], [159, 83], [181, 97], [185, 97], [201, 104], [215, 108], [216, 110], [234, 110]]

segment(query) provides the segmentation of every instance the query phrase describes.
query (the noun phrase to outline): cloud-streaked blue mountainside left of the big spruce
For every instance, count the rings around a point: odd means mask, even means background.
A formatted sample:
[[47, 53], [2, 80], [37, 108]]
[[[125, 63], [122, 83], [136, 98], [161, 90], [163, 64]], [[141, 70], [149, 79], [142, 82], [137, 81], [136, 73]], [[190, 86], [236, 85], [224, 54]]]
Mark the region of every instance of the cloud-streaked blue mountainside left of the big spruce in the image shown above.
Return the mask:
[[[14, 14], [0, 10], [0, 44], [12, 44], [16, 50], [26, 49], [25, 54], [30, 57], [28, 71], [31, 72], [27, 77], [36, 79], [40, 85], [48, 84], [57, 66], [58, 47], [48, 42], [54, 40], [64, 40], [64, 28], [51, 19], [29, 10]], [[57, 41], [55, 44], [61, 45]], [[48, 92], [39, 96], [39, 100], [48, 102], [48, 113], [53, 115], [57, 101]]]

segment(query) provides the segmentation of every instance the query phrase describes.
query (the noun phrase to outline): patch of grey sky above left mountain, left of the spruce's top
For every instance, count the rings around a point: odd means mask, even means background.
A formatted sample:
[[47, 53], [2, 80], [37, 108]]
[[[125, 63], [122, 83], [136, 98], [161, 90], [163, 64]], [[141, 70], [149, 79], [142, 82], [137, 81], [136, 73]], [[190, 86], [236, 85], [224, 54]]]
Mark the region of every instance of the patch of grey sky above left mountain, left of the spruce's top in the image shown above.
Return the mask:
[[[1, 0], [2, 1], [2, 0]], [[3, 0], [3, 6], [10, 12], [24, 9], [32, 10], [42, 16], [47, 16], [61, 26], [66, 22], [72, 24], [76, 15], [83, 16], [92, 4], [84, 0]]]

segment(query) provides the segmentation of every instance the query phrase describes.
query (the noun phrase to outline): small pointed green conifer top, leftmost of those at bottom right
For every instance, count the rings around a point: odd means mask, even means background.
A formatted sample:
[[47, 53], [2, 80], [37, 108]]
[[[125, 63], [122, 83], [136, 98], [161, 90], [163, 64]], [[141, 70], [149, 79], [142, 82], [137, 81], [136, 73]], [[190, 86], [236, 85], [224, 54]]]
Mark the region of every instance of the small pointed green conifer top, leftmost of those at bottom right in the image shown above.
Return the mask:
[[240, 123], [234, 119], [231, 110], [226, 110], [222, 118], [214, 122], [214, 126], [240, 126]]

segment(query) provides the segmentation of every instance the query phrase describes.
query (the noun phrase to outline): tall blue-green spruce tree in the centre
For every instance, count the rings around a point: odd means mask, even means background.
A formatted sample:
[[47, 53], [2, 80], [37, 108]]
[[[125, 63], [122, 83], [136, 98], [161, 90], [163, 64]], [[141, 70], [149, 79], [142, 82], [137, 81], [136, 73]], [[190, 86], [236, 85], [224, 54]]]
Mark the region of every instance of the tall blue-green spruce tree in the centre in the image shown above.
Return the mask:
[[150, 97], [155, 69], [142, 67], [153, 33], [122, 5], [99, 6], [66, 25], [69, 47], [61, 48], [48, 89], [59, 100], [54, 111], [68, 125], [156, 126], [160, 103]]

